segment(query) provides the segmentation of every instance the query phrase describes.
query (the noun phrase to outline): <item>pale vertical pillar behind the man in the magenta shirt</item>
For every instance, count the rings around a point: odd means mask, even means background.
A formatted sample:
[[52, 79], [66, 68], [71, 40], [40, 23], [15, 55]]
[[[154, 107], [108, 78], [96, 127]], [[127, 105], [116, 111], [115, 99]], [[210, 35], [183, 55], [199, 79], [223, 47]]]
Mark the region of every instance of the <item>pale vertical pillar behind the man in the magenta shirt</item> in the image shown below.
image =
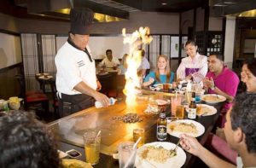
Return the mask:
[[235, 45], [236, 17], [227, 16], [226, 33], [224, 46], [224, 62], [228, 67], [232, 67], [234, 45]]

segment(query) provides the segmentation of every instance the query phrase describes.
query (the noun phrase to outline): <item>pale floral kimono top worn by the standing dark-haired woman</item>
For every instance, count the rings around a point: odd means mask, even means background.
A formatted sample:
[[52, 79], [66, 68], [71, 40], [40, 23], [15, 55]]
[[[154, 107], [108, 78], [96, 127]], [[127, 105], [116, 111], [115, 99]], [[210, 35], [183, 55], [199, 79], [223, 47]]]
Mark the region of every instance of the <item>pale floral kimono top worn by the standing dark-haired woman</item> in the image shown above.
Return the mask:
[[199, 68], [198, 73], [201, 73], [201, 75], [206, 77], [207, 71], [208, 71], [207, 56], [200, 55], [197, 53], [193, 60], [191, 59], [190, 56], [183, 58], [179, 67], [177, 68], [177, 78], [181, 78], [181, 79], [186, 78], [185, 76], [186, 68]]

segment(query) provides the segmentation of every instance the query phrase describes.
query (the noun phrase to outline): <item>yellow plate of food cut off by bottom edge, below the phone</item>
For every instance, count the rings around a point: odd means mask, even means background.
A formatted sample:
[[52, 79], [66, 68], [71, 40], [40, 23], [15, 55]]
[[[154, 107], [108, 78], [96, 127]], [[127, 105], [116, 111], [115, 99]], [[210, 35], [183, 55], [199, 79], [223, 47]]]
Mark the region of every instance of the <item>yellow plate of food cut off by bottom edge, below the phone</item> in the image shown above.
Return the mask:
[[64, 168], [92, 168], [90, 163], [86, 163], [79, 159], [61, 159]]

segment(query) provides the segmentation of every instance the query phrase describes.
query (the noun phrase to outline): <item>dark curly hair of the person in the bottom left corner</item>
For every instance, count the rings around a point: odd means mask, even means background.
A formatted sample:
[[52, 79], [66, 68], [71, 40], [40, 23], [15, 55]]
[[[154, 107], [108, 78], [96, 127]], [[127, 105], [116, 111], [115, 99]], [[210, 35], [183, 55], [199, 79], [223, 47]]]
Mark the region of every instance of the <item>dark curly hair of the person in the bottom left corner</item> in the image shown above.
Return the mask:
[[32, 113], [14, 111], [0, 118], [0, 167], [61, 167], [54, 137]]

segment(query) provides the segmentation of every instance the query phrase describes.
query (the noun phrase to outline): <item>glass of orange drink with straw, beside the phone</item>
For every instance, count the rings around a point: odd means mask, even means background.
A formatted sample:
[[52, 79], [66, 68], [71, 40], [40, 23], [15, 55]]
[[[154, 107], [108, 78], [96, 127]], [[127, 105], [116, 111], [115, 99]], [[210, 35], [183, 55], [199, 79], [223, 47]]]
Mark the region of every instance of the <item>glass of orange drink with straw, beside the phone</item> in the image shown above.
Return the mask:
[[101, 133], [98, 130], [84, 132], [85, 160], [91, 165], [96, 165], [100, 159]]

